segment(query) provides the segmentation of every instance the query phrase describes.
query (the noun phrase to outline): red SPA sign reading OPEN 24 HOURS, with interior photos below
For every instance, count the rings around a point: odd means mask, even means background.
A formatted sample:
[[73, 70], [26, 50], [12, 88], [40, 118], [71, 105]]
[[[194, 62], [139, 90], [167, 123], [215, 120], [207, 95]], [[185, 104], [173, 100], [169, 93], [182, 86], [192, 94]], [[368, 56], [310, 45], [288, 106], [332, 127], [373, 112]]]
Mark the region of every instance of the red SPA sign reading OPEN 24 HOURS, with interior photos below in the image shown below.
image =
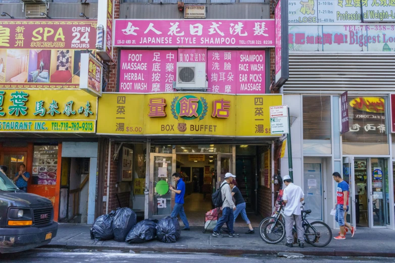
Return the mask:
[[0, 20], [0, 89], [79, 88], [80, 57], [94, 49], [96, 21]]

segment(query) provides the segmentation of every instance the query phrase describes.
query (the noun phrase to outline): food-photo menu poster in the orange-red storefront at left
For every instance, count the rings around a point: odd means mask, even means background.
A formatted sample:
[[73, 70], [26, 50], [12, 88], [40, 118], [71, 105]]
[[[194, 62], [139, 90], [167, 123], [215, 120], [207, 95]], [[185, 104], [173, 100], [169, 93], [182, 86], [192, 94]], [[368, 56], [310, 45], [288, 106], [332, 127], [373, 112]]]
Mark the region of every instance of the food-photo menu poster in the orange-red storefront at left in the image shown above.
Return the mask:
[[56, 184], [58, 170], [58, 146], [34, 146], [32, 184]]

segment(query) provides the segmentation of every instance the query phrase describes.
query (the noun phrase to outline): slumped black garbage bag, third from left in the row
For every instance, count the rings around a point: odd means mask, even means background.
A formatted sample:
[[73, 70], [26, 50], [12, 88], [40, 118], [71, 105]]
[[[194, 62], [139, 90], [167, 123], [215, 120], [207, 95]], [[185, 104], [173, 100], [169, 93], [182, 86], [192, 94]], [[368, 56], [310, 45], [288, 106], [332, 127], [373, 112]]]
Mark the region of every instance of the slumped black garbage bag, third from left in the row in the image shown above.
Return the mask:
[[155, 219], [145, 219], [138, 222], [126, 236], [128, 243], [143, 243], [150, 241], [157, 235], [157, 223]]

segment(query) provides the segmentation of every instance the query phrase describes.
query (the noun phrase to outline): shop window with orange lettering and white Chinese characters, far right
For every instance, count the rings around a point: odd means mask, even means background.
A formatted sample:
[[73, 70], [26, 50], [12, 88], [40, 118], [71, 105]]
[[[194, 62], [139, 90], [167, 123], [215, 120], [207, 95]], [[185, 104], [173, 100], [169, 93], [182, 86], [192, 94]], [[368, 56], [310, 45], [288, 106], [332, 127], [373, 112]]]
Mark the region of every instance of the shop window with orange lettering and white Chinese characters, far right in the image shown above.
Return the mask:
[[342, 135], [343, 154], [389, 154], [385, 97], [349, 97], [350, 131]]

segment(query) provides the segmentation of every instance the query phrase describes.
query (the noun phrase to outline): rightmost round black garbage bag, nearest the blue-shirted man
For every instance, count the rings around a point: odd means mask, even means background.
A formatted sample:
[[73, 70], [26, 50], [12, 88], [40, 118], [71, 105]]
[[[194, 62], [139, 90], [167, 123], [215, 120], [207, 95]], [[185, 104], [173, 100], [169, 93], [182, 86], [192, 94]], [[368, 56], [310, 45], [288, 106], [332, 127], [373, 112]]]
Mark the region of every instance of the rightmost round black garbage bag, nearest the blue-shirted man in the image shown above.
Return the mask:
[[180, 223], [174, 217], [162, 218], [157, 225], [157, 238], [164, 243], [175, 243], [181, 236]]

